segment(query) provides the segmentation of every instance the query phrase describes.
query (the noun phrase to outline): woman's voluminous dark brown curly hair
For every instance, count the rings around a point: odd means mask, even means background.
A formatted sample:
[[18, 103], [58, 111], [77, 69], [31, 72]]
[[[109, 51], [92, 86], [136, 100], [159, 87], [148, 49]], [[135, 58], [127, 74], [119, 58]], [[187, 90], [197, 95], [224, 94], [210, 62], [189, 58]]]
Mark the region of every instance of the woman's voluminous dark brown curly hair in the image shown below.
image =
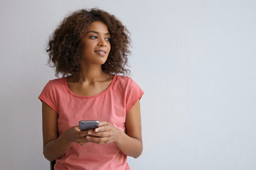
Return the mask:
[[109, 74], [129, 74], [127, 56], [129, 55], [129, 30], [122, 25], [115, 16], [97, 8], [90, 10], [80, 9], [71, 13], [55, 29], [46, 52], [48, 52], [48, 64], [55, 67], [55, 76], [63, 74], [63, 77], [80, 72], [82, 60], [82, 37], [87, 28], [94, 21], [101, 21], [107, 25], [110, 31], [110, 54], [102, 70]]

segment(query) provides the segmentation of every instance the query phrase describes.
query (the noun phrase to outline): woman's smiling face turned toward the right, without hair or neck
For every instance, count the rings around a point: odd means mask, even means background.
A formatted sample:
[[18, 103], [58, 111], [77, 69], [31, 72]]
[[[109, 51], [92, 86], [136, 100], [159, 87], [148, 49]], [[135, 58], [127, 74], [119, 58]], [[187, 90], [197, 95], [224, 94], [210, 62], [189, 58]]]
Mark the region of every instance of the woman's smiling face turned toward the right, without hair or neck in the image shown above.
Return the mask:
[[105, 23], [95, 21], [90, 24], [82, 38], [82, 63], [104, 64], [110, 53], [110, 32]]

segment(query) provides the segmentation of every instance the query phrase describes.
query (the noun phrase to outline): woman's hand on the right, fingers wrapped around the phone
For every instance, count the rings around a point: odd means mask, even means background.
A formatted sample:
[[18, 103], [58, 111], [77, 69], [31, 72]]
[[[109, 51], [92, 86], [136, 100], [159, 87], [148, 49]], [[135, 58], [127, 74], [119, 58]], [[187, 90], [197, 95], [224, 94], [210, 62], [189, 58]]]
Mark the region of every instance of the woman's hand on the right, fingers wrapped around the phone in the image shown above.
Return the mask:
[[107, 144], [110, 142], [117, 142], [122, 130], [115, 128], [114, 125], [107, 122], [100, 122], [100, 128], [90, 130], [87, 133], [86, 139], [88, 142], [95, 144]]

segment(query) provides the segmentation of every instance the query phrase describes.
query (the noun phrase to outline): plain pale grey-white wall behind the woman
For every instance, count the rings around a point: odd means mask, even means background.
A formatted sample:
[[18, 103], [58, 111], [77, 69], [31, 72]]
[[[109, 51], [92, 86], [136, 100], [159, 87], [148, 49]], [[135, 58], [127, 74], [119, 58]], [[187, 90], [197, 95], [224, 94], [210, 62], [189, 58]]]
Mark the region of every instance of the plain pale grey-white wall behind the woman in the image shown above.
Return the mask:
[[144, 152], [132, 169], [256, 169], [256, 1], [0, 3], [1, 169], [49, 169], [42, 154], [44, 51], [68, 11], [100, 7], [132, 33]]

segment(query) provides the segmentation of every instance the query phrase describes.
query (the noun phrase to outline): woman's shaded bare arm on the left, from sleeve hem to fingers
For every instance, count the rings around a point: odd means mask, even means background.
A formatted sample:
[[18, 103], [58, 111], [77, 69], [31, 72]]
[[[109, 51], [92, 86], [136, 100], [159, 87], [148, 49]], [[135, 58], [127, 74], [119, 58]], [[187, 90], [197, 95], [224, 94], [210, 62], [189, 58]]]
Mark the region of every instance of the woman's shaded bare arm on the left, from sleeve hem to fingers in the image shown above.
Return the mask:
[[65, 152], [78, 142], [85, 145], [87, 140], [85, 136], [87, 131], [80, 131], [79, 126], [74, 126], [63, 132], [58, 137], [58, 113], [53, 111], [45, 102], [42, 104], [43, 113], [43, 155], [52, 162], [65, 154]]

